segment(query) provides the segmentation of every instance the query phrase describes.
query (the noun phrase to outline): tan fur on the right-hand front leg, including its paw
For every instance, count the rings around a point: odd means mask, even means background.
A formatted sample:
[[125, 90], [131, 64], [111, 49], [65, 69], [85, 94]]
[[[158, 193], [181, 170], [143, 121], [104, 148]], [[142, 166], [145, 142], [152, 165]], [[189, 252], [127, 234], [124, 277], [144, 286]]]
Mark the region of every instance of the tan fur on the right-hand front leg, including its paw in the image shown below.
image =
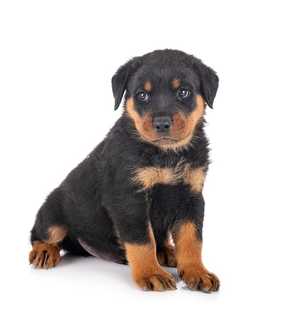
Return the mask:
[[181, 279], [192, 290], [200, 287], [204, 292], [217, 291], [220, 286], [218, 277], [209, 272], [201, 258], [202, 243], [196, 236], [196, 226], [186, 223], [172, 230], [175, 243], [175, 256]]

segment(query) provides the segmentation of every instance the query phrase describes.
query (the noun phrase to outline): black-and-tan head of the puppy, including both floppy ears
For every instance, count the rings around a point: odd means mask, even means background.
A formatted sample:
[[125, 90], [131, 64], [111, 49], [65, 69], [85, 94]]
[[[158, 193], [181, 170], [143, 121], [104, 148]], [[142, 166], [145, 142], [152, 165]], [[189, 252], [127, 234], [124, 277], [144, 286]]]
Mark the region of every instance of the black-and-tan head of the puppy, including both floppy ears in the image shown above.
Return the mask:
[[112, 77], [117, 109], [125, 95], [125, 111], [141, 139], [164, 150], [187, 146], [211, 108], [218, 76], [193, 55], [156, 50], [134, 57]]

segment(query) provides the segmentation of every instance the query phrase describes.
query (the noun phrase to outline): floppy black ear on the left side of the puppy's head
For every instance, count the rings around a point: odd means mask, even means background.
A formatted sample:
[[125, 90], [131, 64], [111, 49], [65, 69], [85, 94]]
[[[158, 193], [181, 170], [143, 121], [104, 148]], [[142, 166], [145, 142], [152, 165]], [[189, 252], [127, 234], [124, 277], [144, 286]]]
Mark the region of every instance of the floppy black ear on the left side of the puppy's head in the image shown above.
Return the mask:
[[140, 57], [134, 57], [125, 65], [121, 66], [112, 77], [112, 91], [115, 98], [114, 110], [116, 110], [123, 98], [124, 92], [127, 89], [129, 78], [133, 75], [138, 67]]

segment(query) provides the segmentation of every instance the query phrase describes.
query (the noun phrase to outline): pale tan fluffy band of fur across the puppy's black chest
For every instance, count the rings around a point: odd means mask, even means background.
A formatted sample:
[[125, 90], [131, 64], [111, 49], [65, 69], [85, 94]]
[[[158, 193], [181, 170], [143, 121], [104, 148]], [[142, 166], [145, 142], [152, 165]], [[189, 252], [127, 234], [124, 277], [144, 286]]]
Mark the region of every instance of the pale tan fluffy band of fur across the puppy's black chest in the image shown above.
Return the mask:
[[208, 165], [193, 167], [191, 164], [179, 162], [175, 167], [144, 167], [135, 171], [133, 182], [142, 186], [141, 190], [147, 191], [157, 184], [190, 185], [194, 193], [203, 190]]

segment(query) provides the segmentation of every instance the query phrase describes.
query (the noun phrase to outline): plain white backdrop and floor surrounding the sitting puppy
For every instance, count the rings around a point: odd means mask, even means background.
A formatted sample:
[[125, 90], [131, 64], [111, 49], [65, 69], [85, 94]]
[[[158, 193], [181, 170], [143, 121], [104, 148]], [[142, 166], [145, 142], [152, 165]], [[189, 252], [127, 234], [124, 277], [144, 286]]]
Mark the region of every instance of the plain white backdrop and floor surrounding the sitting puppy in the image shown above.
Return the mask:
[[[282, 15], [279, 1], [1, 1], [0, 318], [282, 320]], [[29, 231], [103, 139], [111, 77], [154, 49], [194, 54], [220, 78], [204, 195], [203, 260], [220, 291], [143, 292], [130, 268], [64, 257], [29, 266]], [[4, 317], [2, 317], [2, 314]]]

